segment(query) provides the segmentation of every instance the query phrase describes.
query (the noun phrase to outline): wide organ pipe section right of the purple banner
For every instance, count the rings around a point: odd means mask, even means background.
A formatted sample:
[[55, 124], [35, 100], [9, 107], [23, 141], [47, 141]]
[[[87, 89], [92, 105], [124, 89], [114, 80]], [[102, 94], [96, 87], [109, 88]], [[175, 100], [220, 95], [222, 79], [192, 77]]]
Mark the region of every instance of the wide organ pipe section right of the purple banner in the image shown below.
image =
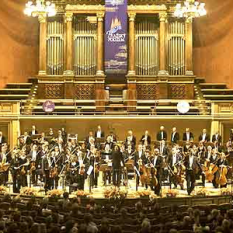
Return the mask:
[[157, 75], [159, 68], [159, 22], [155, 17], [138, 17], [135, 24], [136, 75]]

